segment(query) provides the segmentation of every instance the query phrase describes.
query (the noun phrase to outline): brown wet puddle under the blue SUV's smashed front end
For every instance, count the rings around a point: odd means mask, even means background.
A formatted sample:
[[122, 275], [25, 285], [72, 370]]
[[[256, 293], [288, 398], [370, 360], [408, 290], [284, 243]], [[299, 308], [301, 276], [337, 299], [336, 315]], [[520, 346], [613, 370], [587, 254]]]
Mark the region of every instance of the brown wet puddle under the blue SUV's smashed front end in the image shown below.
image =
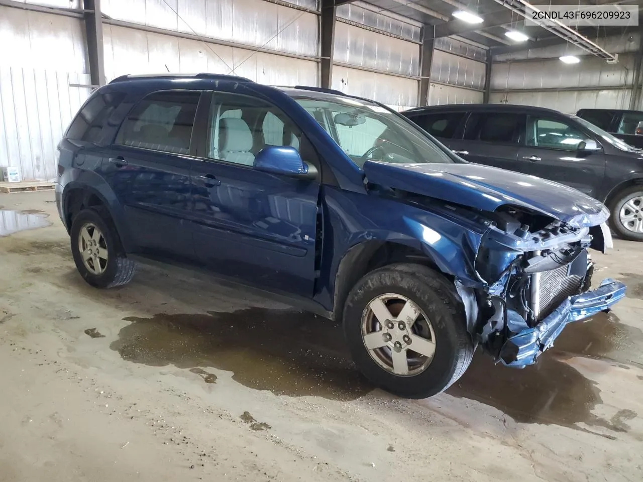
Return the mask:
[[[570, 323], [538, 363], [523, 370], [494, 365], [491, 357], [476, 353], [469, 370], [446, 393], [496, 407], [516, 422], [556, 424], [573, 427], [578, 422], [624, 431], [626, 420], [635, 413], [619, 411], [611, 420], [592, 414], [601, 404], [601, 391], [592, 380], [565, 362], [573, 356], [606, 359], [629, 368], [620, 359], [638, 352], [643, 333], [620, 323], [613, 314], [601, 313], [586, 322]], [[640, 355], [638, 360], [640, 360]], [[636, 363], [634, 360], [633, 362]]]

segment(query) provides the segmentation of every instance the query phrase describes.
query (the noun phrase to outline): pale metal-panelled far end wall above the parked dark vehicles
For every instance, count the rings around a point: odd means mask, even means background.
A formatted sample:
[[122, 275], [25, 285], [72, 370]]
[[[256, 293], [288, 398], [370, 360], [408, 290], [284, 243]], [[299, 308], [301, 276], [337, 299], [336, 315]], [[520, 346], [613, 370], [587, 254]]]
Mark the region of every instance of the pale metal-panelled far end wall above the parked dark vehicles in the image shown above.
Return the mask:
[[[638, 36], [613, 37], [601, 43], [619, 53], [618, 64], [581, 55], [567, 46], [532, 49], [494, 57], [491, 70], [493, 103], [549, 107], [575, 113], [578, 109], [629, 109]], [[579, 64], [563, 64], [561, 55], [578, 55]]]

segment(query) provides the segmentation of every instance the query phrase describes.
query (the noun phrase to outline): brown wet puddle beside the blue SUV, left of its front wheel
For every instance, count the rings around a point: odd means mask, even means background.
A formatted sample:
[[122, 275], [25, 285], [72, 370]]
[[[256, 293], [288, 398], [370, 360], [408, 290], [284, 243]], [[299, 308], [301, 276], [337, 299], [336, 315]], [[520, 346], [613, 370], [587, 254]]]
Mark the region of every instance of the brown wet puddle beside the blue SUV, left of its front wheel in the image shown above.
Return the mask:
[[278, 395], [353, 400], [372, 390], [348, 361], [340, 327], [311, 314], [249, 308], [125, 320], [111, 344], [123, 359], [191, 369], [206, 383], [216, 381], [212, 367]]

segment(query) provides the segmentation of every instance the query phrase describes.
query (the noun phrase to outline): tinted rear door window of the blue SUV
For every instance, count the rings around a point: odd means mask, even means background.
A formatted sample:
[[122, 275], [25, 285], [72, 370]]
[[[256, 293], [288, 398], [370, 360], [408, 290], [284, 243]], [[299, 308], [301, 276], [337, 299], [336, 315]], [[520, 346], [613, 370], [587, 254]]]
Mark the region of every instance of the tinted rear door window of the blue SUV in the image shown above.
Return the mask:
[[200, 95], [196, 91], [150, 94], [123, 121], [116, 142], [126, 146], [188, 154]]

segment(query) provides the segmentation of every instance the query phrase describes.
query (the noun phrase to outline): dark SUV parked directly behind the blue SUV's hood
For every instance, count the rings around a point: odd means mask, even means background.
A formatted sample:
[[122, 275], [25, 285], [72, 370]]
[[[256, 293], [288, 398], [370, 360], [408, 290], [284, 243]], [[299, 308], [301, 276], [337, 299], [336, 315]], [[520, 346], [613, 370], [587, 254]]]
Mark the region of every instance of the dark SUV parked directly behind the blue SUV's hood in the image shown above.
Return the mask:
[[467, 161], [567, 184], [610, 208], [611, 228], [643, 241], [643, 151], [570, 114], [501, 104], [403, 112]]

